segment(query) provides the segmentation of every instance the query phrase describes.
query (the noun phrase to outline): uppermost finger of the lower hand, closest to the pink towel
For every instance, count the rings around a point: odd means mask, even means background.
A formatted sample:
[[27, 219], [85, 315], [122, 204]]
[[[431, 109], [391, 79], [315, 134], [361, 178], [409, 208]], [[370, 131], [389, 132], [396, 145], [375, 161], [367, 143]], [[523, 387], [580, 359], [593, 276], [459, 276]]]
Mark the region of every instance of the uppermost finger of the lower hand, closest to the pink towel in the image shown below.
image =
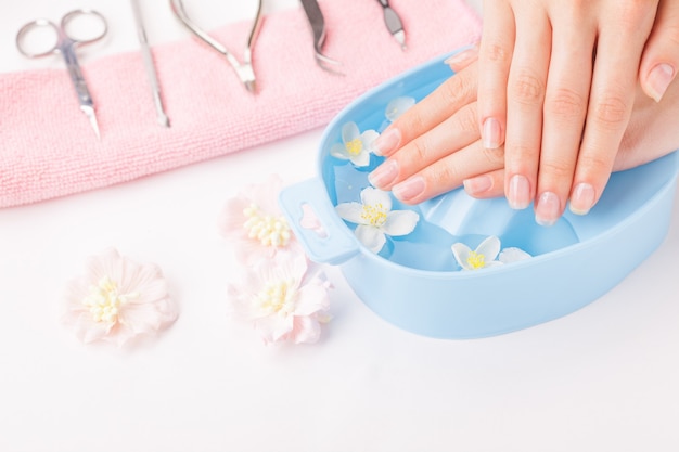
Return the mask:
[[457, 111], [476, 100], [477, 65], [469, 67], [444, 81], [380, 134], [374, 153], [388, 157], [399, 147], [426, 133]]

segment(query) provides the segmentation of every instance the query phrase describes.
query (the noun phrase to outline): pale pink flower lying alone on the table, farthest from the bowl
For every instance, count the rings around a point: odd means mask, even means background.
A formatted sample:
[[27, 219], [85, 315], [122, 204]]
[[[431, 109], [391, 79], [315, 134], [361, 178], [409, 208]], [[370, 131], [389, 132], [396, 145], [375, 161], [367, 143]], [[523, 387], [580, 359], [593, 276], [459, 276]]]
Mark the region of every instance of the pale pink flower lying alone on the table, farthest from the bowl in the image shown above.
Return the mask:
[[65, 299], [64, 322], [84, 343], [105, 340], [123, 346], [177, 319], [161, 269], [137, 263], [115, 249], [89, 258], [86, 274], [67, 285]]

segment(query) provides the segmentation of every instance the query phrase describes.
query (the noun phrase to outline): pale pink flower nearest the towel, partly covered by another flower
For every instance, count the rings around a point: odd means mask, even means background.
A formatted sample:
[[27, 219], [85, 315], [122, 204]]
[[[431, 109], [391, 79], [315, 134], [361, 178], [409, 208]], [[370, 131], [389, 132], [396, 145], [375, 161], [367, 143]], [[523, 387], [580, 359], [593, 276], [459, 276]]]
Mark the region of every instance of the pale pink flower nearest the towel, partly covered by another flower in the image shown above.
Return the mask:
[[270, 176], [261, 184], [247, 186], [225, 205], [219, 230], [233, 244], [240, 261], [254, 263], [302, 249], [278, 205], [282, 185], [278, 176]]

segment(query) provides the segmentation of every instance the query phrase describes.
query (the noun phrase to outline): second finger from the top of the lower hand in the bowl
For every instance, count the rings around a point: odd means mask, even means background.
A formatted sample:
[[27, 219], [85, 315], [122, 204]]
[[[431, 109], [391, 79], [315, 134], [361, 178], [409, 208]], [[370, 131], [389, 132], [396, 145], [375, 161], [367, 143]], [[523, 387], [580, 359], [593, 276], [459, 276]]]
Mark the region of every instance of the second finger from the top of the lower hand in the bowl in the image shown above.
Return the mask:
[[476, 104], [470, 104], [441, 124], [415, 138], [383, 162], [368, 176], [380, 190], [392, 190], [440, 158], [453, 154], [479, 139]]

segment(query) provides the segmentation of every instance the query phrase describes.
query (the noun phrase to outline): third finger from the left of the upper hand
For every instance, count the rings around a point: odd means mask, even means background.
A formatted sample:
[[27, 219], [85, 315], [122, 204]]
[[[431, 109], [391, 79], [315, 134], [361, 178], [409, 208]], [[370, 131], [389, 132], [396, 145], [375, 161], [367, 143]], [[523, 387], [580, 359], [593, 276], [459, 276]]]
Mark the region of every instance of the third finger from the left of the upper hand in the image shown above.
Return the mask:
[[552, 54], [543, 105], [537, 178], [538, 224], [563, 214], [578, 157], [592, 74], [597, 23], [590, 10], [563, 2], [551, 11]]

